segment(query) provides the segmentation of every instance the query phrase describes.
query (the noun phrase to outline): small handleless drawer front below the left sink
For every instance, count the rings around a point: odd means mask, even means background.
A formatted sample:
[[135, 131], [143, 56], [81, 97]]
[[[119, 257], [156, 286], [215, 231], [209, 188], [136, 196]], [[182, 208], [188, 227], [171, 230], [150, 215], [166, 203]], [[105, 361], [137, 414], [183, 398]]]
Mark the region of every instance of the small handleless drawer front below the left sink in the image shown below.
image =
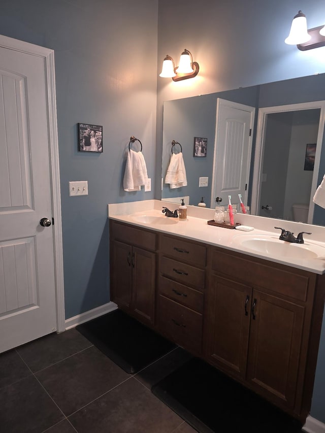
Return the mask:
[[110, 220], [111, 238], [115, 241], [125, 242], [147, 250], [156, 250], [157, 235], [143, 228], [121, 224]]

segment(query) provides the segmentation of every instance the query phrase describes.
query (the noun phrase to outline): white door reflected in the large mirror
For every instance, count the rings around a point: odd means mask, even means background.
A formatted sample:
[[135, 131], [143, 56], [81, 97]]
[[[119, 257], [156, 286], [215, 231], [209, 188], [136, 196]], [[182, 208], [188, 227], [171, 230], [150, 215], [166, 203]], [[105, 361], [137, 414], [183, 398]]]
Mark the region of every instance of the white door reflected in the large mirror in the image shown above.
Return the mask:
[[254, 115], [254, 107], [217, 99], [211, 208], [216, 197], [228, 205], [229, 195], [236, 206], [238, 194], [247, 205]]

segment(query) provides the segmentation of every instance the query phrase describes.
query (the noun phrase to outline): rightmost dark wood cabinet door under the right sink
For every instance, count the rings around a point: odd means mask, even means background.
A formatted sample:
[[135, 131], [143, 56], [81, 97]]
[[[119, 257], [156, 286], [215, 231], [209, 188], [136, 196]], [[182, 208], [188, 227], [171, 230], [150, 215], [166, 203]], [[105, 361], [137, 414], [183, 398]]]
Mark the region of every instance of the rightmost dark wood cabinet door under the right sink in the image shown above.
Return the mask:
[[275, 404], [293, 408], [304, 307], [253, 291], [247, 380]]

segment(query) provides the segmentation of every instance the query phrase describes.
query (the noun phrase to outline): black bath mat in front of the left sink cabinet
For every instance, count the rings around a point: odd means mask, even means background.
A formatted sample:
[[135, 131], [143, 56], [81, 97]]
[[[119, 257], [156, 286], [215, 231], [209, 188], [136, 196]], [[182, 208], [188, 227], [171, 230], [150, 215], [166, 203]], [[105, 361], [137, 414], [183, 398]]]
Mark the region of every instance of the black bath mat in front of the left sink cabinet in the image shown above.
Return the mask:
[[76, 329], [121, 367], [137, 373], [176, 346], [121, 310], [114, 310]]

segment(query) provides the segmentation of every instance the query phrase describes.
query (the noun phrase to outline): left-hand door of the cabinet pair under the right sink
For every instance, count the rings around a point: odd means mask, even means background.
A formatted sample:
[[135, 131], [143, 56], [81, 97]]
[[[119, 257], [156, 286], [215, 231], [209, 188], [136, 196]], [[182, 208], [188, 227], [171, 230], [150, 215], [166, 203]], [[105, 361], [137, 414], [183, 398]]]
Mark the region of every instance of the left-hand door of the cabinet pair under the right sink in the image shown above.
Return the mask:
[[207, 355], [221, 370], [241, 378], [246, 374], [251, 292], [249, 286], [211, 276]]

